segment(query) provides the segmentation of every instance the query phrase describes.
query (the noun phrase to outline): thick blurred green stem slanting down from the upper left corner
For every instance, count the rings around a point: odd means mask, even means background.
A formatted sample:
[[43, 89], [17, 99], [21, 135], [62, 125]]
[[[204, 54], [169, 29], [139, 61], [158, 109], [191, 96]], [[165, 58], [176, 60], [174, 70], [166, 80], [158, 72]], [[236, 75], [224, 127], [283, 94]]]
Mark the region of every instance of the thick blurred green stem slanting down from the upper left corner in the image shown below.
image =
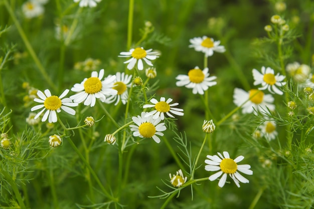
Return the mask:
[[19, 32], [19, 34], [20, 34], [20, 36], [21, 36], [21, 38], [22, 38], [22, 40], [23, 40], [27, 50], [29, 51], [31, 57], [33, 58], [35, 64], [37, 65], [39, 71], [41, 72], [42, 76], [44, 77], [46, 82], [49, 84], [49, 86], [51, 88], [53, 88], [54, 90], [56, 90], [55, 84], [52, 82], [52, 80], [50, 79], [50, 77], [46, 73], [45, 68], [43, 67], [42, 63], [39, 61], [39, 59], [38, 59], [38, 57], [37, 57], [37, 55], [36, 55], [32, 45], [30, 44], [29, 40], [27, 39], [27, 37], [26, 37], [26, 35], [25, 35], [25, 33], [24, 33], [24, 31], [23, 31], [19, 21], [17, 20], [13, 10], [11, 9], [11, 7], [10, 7], [10, 5], [8, 3], [8, 0], [5, 0], [4, 4], [5, 4], [8, 12], [9, 12], [9, 14], [10, 14], [10, 16], [11, 16], [11, 18], [12, 18], [14, 24], [15, 24], [15, 26], [17, 27], [18, 32]]

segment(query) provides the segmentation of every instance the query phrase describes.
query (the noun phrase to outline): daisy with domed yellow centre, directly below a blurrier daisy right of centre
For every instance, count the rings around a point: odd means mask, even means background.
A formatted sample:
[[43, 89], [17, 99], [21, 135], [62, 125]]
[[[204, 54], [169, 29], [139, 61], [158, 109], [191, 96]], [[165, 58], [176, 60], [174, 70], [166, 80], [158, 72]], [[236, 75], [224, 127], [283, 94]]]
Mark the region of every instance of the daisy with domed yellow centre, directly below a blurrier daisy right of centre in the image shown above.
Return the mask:
[[185, 86], [189, 89], [193, 89], [193, 94], [204, 94], [204, 91], [210, 86], [217, 84], [215, 80], [216, 76], [209, 77], [208, 68], [205, 68], [203, 71], [199, 67], [195, 67], [190, 70], [188, 75], [178, 75], [176, 77], [177, 86]]

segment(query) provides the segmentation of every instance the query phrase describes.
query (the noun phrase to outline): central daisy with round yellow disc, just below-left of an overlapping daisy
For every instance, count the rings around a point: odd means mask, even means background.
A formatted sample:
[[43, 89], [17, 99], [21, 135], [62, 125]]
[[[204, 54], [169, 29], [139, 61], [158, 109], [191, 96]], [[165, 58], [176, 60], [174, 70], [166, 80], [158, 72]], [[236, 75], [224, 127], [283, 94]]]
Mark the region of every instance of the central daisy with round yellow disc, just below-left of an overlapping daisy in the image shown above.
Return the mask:
[[133, 136], [140, 138], [151, 138], [156, 142], [160, 143], [161, 139], [156, 136], [164, 136], [161, 131], [165, 131], [167, 128], [165, 123], [160, 123], [161, 118], [153, 119], [152, 116], [145, 117], [147, 112], [142, 112], [140, 116], [133, 116], [132, 120], [136, 125], [130, 125]]

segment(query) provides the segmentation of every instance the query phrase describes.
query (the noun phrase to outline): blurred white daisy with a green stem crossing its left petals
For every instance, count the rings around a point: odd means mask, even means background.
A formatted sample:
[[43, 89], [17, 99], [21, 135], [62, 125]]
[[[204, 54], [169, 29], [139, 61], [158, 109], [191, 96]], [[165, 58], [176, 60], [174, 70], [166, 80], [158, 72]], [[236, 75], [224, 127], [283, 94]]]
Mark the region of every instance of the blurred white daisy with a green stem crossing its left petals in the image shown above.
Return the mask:
[[[242, 106], [242, 113], [252, 113], [257, 114], [254, 109], [257, 112], [263, 112], [266, 111], [267, 108], [270, 111], [275, 110], [275, 105], [272, 103], [274, 102], [274, 98], [271, 94], [264, 94], [262, 91], [259, 91], [257, 93], [257, 89], [251, 89], [250, 91], [246, 92], [242, 89], [235, 88], [233, 93], [233, 103], [237, 105], [238, 107], [242, 105], [244, 102], [246, 102]], [[255, 96], [253, 96], [255, 95]], [[252, 97], [252, 98], [251, 98]], [[266, 108], [267, 107], [267, 108]]]

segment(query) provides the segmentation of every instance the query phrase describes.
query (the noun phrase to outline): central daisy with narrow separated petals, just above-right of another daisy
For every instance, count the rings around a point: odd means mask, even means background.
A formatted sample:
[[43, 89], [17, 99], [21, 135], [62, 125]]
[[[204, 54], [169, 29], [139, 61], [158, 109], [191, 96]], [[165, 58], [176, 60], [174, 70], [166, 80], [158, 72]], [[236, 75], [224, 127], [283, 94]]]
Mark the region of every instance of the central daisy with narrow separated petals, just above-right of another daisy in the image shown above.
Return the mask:
[[152, 98], [150, 100], [150, 102], [152, 104], [145, 104], [143, 106], [143, 108], [154, 107], [155, 109], [153, 111], [147, 113], [145, 115], [145, 117], [149, 117], [150, 115], [153, 115], [152, 119], [157, 119], [160, 117], [162, 120], [164, 120], [165, 119], [165, 113], [169, 117], [172, 117], [172, 118], [175, 118], [172, 114], [183, 116], [184, 115], [183, 109], [174, 107], [174, 106], [178, 106], [179, 103], [176, 102], [176, 103], [170, 104], [172, 102], [172, 100], [173, 99], [169, 98], [166, 101], [165, 97], [161, 97], [161, 101], [158, 101], [158, 100]]

